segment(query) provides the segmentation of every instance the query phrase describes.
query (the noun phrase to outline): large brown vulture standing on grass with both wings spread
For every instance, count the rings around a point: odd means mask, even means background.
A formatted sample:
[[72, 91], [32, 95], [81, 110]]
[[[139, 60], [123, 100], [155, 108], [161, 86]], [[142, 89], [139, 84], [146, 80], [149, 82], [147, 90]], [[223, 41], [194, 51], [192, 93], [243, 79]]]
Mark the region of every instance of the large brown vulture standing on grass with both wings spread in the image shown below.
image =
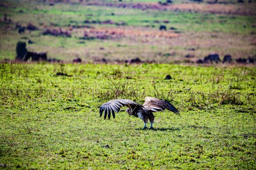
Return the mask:
[[130, 116], [133, 115], [143, 120], [144, 127], [142, 129], [147, 128], [146, 123], [148, 119], [150, 120], [150, 123], [151, 123], [150, 129], [154, 129], [153, 123], [154, 123], [155, 116], [153, 112], [163, 111], [164, 109], [167, 109], [169, 111], [174, 112], [178, 116], [180, 116], [179, 111], [169, 102], [147, 96], [145, 98], [144, 104], [142, 105], [129, 99], [110, 100], [109, 102], [106, 102], [100, 106], [100, 109], [99, 109], [100, 117], [104, 112], [104, 119], [106, 119], [107, 115], [110, 119], [111, 113], [113, 118], [115, 118], [115, 112], [119, 112], [120, 108], [124, 106], [128, 107], [126, 109], [126, 112]]

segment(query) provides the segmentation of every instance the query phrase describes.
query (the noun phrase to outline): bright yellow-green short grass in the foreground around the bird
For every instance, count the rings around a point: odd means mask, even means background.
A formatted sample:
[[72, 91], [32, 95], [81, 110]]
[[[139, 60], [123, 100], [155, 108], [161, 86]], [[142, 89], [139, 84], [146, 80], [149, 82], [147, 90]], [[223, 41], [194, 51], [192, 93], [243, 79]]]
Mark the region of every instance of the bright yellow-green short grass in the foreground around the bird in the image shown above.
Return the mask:
[[[1, 64], [0, 164], [254, 169], [255, 74], [253, 67]], [[108, 100], [143, 103], [145, 96], [170, 101], [181, 117], [155, 113], [155, 130], [142, 130], [142, 120], [125, 112], [99, 117]]]

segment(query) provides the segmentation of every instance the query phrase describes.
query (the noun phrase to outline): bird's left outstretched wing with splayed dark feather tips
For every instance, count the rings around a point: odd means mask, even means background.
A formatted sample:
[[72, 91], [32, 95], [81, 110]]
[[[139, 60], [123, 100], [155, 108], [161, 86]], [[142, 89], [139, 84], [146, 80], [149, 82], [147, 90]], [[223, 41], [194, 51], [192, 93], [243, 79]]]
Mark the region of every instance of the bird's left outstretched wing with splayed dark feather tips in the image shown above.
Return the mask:
[[102, 113], [105, 110], [104, 119], [106, 119], [106, 115], [108, 115], [110, 119], [111, 112], [113, 117], [115, 118], [115, 112], [119, 112], [120, 108], [123, 106], [129, 107], [131, 110], [134, 110], [137, 107], [141, 107], [140, 104], [129, 99], [115, 99], [115, 100], [106, 102], [100, 106], [100, 109], [99, 109], [100, 117], [102, 116]]

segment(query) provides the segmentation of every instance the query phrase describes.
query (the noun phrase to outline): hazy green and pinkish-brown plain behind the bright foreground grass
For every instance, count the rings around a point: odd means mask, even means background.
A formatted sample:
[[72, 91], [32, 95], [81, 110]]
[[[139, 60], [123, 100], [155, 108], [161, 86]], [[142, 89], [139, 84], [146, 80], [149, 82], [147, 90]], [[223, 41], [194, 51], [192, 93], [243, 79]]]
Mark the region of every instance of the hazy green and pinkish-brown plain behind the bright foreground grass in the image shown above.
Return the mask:
[[[140, 58], [195, 63], [214, 53], [221, 59], [230, 54], [233, 60], [254, 56], [255, 2], [209, 2], [175, 1], [162, 6], [158, 1], [3, 1], [0, 59], [14, 59], [18, 41], [27, 42], [29, 51], [47, 52], [48, 58], [66, 62]], [[27, 28], [29, 23], [37, 29], [19, 34], [16, 26]], [[166, 31], [159, 30], [161, 25]]]

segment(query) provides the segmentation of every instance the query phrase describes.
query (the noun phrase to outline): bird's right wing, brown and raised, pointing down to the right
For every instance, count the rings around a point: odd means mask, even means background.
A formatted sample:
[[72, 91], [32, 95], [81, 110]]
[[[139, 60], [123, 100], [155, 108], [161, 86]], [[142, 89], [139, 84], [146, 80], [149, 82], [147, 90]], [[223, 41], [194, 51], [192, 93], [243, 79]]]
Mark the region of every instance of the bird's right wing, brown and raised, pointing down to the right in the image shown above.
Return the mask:
[[174, 112], [175, 114], [180, 116], [179, 111], [170, 103], [152, 97], [146, 97], [145, 103], [142, 105], [146, 110], [151, 110], [153, 112], [162, 111], [167, 109], [169, 111]]

